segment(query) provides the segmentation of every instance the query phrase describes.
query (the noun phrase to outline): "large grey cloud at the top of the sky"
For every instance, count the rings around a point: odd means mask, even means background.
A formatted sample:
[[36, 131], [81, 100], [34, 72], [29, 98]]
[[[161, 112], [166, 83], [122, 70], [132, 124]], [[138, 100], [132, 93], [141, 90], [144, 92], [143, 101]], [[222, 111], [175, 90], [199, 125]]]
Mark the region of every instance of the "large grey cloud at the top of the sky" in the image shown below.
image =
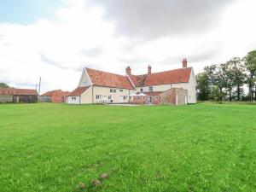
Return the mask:
[[234, 0], [90, 0], [116, 22], [117, 32], [131, 38], [159, 38], [204, 32]]

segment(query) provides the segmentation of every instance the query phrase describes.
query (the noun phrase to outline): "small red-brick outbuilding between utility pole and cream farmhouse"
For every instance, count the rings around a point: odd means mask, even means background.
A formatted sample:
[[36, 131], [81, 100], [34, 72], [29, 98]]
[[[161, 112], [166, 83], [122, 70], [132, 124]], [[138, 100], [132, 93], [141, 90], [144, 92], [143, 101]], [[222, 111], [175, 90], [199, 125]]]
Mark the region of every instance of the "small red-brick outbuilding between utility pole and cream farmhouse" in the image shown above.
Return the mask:
[[68, 91], [51, 90], [39, 96], [39, 102], [66, 102]]

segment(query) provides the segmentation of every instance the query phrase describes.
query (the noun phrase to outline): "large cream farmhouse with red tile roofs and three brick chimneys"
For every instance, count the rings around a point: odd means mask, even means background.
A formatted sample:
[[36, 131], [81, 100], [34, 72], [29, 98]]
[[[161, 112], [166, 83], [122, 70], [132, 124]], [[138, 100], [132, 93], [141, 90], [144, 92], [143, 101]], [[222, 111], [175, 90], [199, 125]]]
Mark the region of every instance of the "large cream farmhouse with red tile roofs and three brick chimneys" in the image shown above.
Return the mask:
[[134, 75], [126, 67], [125, 75], [107, 73], [85, 67], [79, 86], [67, 96], [67, 104], [90, 103], [140, 103], [140, 104], [187, 104], [196, 102], [195, 73], [187, 67]]

